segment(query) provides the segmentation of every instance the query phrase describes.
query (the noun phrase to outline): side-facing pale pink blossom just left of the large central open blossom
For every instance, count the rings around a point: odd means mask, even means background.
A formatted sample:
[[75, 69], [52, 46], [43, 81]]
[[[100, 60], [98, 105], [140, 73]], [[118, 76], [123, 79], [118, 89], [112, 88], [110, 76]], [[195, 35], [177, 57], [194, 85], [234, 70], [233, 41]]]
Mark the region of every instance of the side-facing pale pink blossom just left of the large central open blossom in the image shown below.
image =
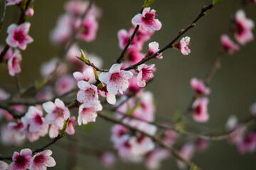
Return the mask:
[[85, 71], [81, 72], [74, 72], [73, 73], [73, 77], [77, 80], [77, 81], [95, 81], [95, 74], [94, 74], [94, 70], [92, 69], [92, 67], [88, 67], [87, 69], [85, 69]]

